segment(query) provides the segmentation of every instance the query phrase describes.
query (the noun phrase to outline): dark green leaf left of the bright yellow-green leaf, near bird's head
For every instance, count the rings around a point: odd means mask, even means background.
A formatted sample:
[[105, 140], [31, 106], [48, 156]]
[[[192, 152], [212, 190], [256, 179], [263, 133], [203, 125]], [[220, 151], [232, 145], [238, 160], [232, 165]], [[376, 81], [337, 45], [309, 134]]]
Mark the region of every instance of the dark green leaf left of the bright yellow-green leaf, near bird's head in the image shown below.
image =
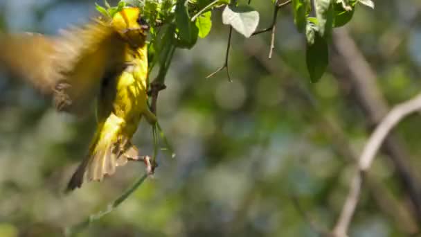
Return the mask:
[[199, 29], [195, 22], [190, 20], [186, 6], [186, 0], [178, 1], [175, 8], [175, 24], [177, 25], [178, 45], [181, 48], [190, 49], [197, 42]]

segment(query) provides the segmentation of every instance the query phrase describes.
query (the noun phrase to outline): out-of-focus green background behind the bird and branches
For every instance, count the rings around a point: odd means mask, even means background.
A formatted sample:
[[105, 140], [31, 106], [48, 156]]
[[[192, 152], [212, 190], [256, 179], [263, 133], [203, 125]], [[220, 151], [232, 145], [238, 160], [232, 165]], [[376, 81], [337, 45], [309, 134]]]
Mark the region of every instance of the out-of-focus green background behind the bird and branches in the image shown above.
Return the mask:
[[[347, 28], [375, 69], [377, 87], [395, 104], [421, 89], [421, 2], [375, 3], [375, 10], [357, 6]], [[260, 12], [259, 28], [268, 26], [271, 1], [252, 6]], [[220, 11], [208, 38], [176, 51], [158, 116], [177, 157], [162, 153], [154, 178], [80, 236], [319, 236], [310, 222], [334, 226], [354, 167], [341, 150], [359, 155], [368, 122], [347, 81], [328, 71], [310, 84], [305, 38], [289, 8], [278, 15], [272, 60], [270, 33], [233, 36], [233, 82], [224, 71], [205, 78], [224, 60], [229, 28]], [[94, 1], [0, 0], [3, 32], [55, 35], [92, 15]], [[129, 164], [104, 182], [64, 195], [87, 152], [93, 114], [58, 114], [48, 99], [1, 72], [0, 121], [0, 236], [61, 236], [144, 173], [143, 164]], [[404, 121], [397, 134], [418, 175], [420, 117]], [[144, 121], [134, 143], [152, 152]], [[395, 166], [379, 155], [370, 174], [379, 190], [364, 187], [350, 236], [417, 233]]]

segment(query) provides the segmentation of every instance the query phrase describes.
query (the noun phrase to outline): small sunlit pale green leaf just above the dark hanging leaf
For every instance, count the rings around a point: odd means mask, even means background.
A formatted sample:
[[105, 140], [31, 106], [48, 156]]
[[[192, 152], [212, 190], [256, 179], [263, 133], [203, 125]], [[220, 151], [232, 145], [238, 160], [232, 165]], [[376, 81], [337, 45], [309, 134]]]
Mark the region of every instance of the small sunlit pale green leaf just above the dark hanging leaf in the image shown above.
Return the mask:
[[330, 35], [333, 25], [332, 0], [315, 0], [316, 18], [319, 21], [319, 33], [321, 36]]

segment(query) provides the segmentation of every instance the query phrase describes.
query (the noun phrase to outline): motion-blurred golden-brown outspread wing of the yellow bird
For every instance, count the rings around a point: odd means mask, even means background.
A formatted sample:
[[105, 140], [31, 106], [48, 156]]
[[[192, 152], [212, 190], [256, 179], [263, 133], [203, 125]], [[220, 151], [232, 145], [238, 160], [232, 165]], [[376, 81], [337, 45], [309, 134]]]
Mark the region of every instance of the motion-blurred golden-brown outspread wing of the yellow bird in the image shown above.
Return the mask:
[[1, 35], [0, 66], [52, 95], [59, 111], [80, 114], [98, 96], [102, 78], [123, 71], [124, 47], [109, 24], [92, 21], [59, 37]]

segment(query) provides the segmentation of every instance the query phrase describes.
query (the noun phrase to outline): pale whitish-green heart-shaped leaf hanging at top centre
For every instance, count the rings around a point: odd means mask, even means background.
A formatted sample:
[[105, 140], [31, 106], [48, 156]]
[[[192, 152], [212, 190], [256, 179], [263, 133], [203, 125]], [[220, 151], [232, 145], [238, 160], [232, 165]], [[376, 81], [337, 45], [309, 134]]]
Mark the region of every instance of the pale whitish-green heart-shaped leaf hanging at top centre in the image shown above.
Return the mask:
[[250, 37], [259, 24], [259, 12], [248, 5], [226, 6], [222, 12], [222, 23], [231, 25], [238, 33]]

